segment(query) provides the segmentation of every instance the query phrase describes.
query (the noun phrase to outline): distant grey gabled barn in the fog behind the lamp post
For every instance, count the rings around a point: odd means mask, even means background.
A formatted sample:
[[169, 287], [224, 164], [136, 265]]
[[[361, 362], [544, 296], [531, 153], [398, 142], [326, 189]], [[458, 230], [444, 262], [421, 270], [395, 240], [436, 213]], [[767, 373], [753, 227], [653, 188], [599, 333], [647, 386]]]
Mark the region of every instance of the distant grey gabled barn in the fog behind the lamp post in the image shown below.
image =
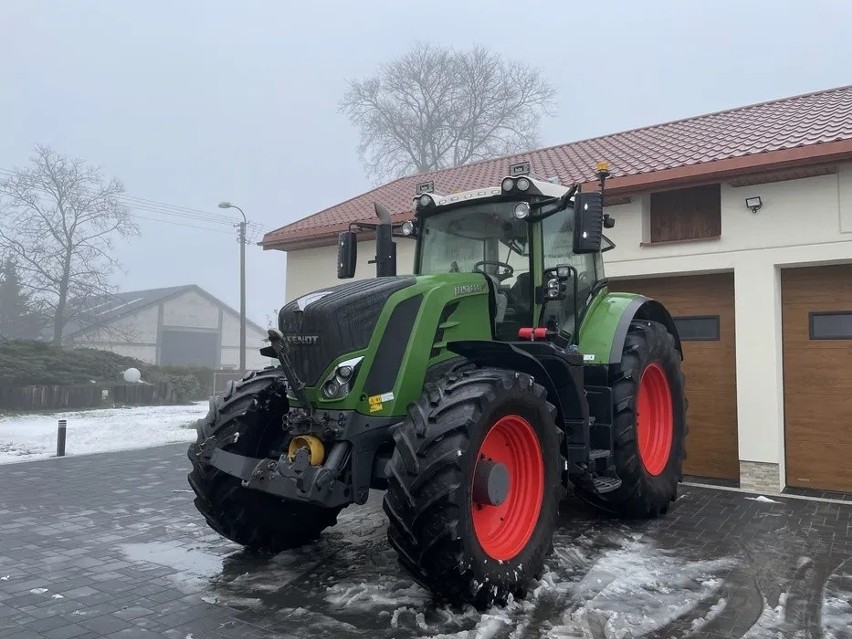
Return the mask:
[[[240, 363], [240, 314], [202, 288], [128, 291], [96, 300], [86, 326], [69, 326], [65, 343], [90, 346], [162, 366], [236, 369]], [[266, 330], [246, 321], [246, 366], [269, 360], [258, 352]]]

